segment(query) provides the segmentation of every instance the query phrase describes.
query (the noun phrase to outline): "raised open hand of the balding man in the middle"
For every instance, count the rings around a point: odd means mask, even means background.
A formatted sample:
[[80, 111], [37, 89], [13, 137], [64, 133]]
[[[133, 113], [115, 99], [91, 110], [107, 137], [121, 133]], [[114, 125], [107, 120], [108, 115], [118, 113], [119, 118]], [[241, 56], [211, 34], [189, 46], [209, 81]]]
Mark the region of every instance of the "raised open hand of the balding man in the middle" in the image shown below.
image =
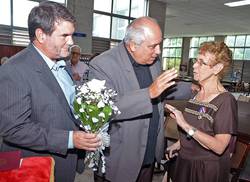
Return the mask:
[[155, 81], [149, 86], [149, 95], [151, 99], [154, 99], [161, 95], [161, 93], [167, 88], [175, 84], [172, 81], [177, 77], [177, 70], [172, 68], [171, 70], [164, 71], [160, 76], [158, 76]]

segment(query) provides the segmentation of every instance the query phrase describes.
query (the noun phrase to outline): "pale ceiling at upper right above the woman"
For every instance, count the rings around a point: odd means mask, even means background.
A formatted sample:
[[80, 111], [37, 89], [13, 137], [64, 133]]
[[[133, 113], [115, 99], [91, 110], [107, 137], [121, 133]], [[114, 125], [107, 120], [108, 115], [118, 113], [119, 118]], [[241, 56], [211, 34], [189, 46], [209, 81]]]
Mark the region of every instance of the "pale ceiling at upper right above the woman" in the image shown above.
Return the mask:
[[167, 3], [165, 37], [250, 34], [250, 5], [233, 0], [158, 0]]

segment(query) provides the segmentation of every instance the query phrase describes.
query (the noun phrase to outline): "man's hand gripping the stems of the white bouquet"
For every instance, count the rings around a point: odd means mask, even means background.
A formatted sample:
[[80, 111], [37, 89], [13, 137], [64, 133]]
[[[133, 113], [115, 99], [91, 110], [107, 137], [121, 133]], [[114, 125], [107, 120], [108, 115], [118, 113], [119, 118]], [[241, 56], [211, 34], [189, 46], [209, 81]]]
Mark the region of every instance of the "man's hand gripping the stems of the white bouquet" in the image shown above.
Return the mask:
[[97, 134], [83, 131], [73, 131], [73, 143], [75, 148], [89, 151], [95, 151], [101, 146], [101, 140]]

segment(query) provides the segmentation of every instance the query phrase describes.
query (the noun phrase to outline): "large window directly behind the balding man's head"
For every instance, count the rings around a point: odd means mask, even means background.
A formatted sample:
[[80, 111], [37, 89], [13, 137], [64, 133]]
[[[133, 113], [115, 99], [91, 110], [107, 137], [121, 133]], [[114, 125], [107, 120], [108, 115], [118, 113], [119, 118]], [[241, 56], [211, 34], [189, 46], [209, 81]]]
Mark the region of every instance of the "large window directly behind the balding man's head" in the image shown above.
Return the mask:
[[147, 1], [94, 0], [93, 36], [116, 42], [122, 40], [129, 22], [146, 15]]

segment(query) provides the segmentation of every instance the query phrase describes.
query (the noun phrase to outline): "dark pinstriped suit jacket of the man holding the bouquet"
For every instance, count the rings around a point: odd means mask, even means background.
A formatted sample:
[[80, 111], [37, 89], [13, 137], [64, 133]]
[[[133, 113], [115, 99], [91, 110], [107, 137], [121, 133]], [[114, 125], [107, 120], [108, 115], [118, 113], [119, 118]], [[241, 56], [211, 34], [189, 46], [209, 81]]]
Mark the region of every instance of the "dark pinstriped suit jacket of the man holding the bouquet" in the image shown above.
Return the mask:
[[0, 136], [2, 151], [22, 156], [50, 155], [55, 177], [73, 182], [77, 151], [68, 150], [69, 130], [77, 130], [56, 78], [33, 45], [0, 68]]

